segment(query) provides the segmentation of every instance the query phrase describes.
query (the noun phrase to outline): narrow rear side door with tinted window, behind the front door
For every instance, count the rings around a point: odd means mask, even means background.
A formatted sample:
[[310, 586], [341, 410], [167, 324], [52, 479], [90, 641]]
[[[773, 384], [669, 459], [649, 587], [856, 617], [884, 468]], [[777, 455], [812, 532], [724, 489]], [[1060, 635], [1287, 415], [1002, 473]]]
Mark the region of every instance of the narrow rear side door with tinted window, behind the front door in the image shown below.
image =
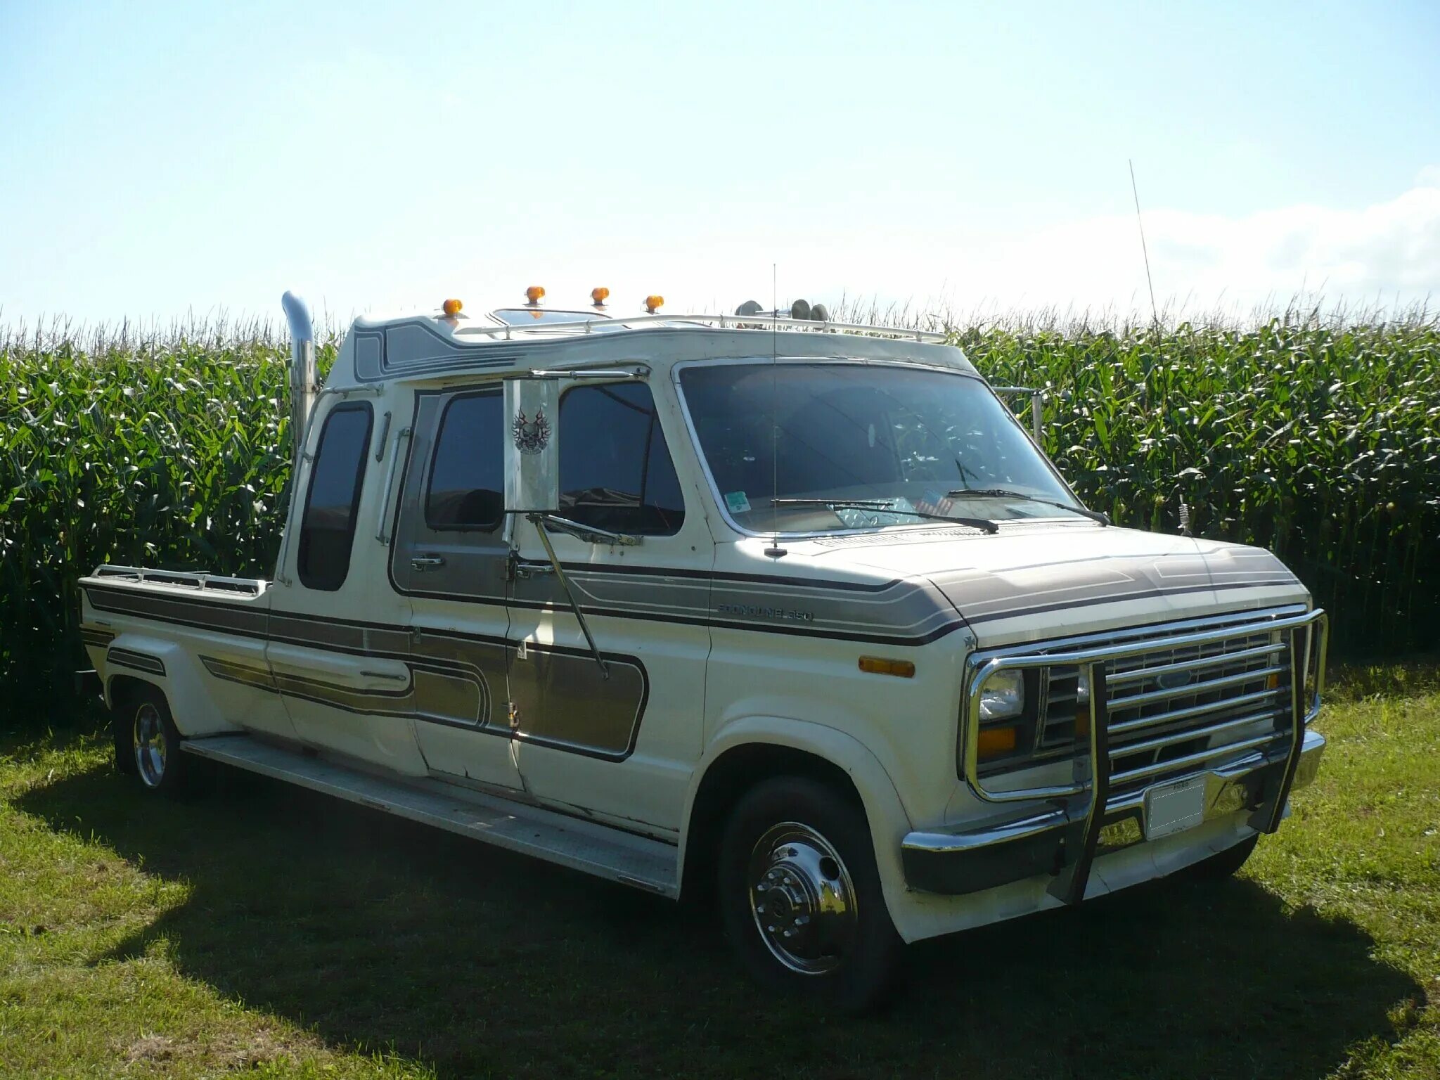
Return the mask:
[[429, 769], [517, 788], [503, 413], [498, 383], [416, 395], [389, 575], [410, 602], [415, 732]]

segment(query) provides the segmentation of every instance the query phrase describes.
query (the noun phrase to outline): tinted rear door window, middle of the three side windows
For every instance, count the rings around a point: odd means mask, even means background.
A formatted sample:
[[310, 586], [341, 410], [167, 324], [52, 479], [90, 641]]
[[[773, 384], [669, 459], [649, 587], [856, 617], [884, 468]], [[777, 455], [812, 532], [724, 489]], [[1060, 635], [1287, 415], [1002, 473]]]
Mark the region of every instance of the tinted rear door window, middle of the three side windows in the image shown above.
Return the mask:
[[495, 530], [505, 516], [504, 400], [500, 387], [454, 397], [441, 415], [425, 492], [433, 530]]

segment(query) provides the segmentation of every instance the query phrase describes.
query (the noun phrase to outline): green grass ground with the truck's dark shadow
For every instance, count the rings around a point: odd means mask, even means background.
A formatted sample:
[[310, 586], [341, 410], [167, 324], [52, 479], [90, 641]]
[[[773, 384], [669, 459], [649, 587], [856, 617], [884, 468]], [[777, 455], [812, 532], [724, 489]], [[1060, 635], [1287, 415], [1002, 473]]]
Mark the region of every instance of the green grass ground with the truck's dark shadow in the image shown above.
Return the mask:
[[0, 1076], [1440, 1077], [1440, 670], [1351, 671], [1244, 874], [929, 942], [860, 1021], [708, 914], [233, 776], [0, 747]]

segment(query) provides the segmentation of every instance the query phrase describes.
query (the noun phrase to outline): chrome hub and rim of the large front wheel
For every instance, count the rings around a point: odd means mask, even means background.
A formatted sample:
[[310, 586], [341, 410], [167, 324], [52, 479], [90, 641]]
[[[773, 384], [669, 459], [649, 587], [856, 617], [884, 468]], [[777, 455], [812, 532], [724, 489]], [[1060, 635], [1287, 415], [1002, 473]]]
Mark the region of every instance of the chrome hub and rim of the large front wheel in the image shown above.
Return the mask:
[[750, 912], [760, 939], [802, 975], [838, 968], [855, 936], [855, 887], [840, 852], [809, 825], [769, 829], [749, 864]]

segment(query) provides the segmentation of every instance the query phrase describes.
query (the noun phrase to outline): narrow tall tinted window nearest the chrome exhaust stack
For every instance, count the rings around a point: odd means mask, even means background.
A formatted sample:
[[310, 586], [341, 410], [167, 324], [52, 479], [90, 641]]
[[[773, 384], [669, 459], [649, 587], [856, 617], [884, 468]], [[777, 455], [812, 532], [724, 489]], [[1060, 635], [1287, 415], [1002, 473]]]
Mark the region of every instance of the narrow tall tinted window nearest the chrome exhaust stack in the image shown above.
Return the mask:
[[310, 589], [334, 592], [350, 573], [369, 446], [370, 406], [333, 409], [320, 429], [300, 526], [300, 580]]

